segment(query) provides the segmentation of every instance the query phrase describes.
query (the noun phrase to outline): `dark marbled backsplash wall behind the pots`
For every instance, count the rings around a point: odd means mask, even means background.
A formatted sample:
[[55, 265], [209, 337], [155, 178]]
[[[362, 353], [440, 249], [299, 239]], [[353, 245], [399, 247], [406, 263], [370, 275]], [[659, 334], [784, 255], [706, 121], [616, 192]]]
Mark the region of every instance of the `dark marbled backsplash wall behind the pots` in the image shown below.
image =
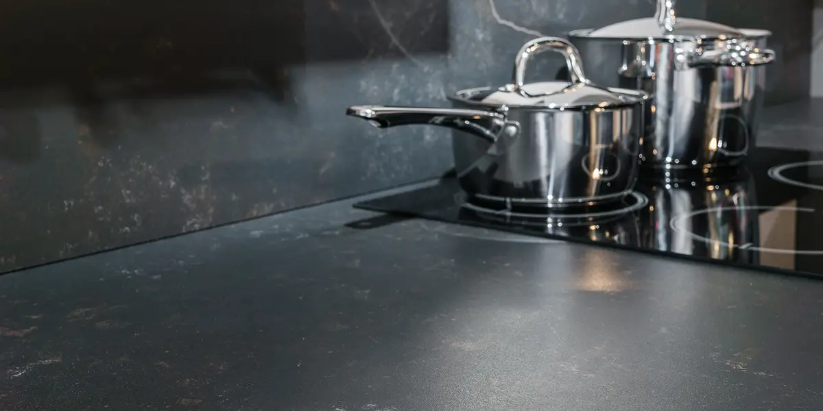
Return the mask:
[[[735, 2], [679, 8], [774, 30], [787, 57], [770, 68], [779, 85], [770, 99], [807, 95], [811, 3]], [[450, 91], [507, 81], [514, 49], [535, 35], [653, 9], [649, 0], [4, 2], [0, 271], [437, 176], [451, 164], [447, 133], [378, 131], [346, 118], [346, 106], [445, 105]], [[536, 76], [559, 63], [542, 56]]]

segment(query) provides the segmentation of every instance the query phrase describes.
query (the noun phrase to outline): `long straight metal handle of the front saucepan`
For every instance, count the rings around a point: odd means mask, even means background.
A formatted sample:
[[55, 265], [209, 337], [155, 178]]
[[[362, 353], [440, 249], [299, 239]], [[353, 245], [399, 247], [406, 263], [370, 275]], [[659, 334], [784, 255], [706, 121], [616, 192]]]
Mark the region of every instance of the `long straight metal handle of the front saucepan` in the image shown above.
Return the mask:
[[504, 133], [514, 135], [518, 132], [514, 122], [507, 122], [504, 115], [481, 110], [356, 105], [346, 109], [346, 115], [363, 118], [378, 128], [412, 124], [453, 128], [490, 143]]

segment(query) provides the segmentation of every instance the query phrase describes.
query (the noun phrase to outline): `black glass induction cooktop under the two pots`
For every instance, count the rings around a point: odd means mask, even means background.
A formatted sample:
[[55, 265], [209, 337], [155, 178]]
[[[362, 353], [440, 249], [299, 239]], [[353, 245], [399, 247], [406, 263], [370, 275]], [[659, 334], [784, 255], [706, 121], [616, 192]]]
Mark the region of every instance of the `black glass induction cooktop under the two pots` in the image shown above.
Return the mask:
[[501, 210], [454, 178], [355, 205], [542, 238], [823, 277], [823, 151], [758, 148], [713, 173], [644, 173], [620, 203]]

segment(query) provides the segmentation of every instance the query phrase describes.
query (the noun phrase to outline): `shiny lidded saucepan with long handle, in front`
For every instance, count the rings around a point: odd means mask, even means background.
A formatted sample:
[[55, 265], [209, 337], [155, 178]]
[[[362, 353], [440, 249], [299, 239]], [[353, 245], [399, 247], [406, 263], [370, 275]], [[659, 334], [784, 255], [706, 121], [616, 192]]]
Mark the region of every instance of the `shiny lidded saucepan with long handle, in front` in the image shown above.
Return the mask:
[[[523, 83], [528, 60], [546, 50], [564, 55], [571, 82]], [[449, 97], [453, 109], [353, 106], [347, 114], [376, 127], [458, 130], [458, 180], [485, 201], [562, 207], [620, 200], [637, 178], [648, 95], [593, 85], [579, 60], [565, 39], [534, 39], [520, 49], [511, 84], [458, 91]]]

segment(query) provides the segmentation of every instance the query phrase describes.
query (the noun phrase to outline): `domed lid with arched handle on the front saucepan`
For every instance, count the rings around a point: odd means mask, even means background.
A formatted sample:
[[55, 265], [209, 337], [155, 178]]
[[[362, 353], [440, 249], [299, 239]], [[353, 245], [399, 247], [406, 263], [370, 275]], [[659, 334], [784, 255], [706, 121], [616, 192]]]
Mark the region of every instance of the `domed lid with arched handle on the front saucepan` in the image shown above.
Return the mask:
[[[524, 84], [526, 65], [533, 55], [551, 50], [563, 54], [572, 81], [543, 81]], [[497, 89], [473, 89], [458, 92], [470, 103], [538, 109], [609, 108], [638, 104], [648, 95], [642, 91], [611, 89], [593, 85], [584, 75], [577, 48], [559, 37], [533, 39], [520, 48], [514, 61], [512, 84]]]

